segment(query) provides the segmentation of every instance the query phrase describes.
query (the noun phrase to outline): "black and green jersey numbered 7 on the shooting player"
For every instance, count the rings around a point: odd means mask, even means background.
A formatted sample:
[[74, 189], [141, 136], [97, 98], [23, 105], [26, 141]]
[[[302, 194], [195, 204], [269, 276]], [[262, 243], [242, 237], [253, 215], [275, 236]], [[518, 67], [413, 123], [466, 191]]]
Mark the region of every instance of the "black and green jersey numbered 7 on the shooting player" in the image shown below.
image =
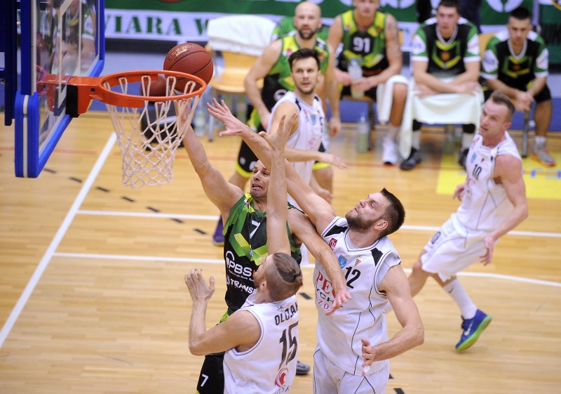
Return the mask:
[[[226, 264], [226, 303], [236, 311], [255, 290], [253, 274], [267, 256], [266, 212], [253, 207], [250, 193], [234, 204], [224, 225], [224, 263]], [[288, 204], [289, 209], [295, 209]], [[302, 261], [300, 245], [292, 239], [286, 225], [290, 252], [297, 263]]]

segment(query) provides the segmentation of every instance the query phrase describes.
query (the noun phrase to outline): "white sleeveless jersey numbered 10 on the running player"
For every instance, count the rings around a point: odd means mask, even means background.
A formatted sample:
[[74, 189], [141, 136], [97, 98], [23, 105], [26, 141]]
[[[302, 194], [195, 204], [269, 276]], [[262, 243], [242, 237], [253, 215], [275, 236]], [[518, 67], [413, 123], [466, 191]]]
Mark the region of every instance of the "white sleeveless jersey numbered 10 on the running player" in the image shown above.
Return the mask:
[[482, 145], [482, 136], [473, 138], [466, 160], [466, 188], [458, 208], [457, 220], [471, 230], [492, 231], [513, 210], [503, 185], [493, 180], [495, 158], [510, 155], [520, 161], [518, 148], [505, 132], [506, 140], [493, 148]]

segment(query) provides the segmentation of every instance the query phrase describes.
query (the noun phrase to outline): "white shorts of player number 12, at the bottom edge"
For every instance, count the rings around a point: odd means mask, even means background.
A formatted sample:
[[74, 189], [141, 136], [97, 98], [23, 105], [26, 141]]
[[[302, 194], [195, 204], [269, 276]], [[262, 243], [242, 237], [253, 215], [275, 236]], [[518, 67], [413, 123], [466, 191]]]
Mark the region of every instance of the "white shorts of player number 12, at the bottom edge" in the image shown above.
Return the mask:
[[349, 374], [339, 368], [319, 348], [313, 353], [314, 394], [384, 394], [389, 376], [389, 361], [386, 362], [386, 367], [362, 376]]

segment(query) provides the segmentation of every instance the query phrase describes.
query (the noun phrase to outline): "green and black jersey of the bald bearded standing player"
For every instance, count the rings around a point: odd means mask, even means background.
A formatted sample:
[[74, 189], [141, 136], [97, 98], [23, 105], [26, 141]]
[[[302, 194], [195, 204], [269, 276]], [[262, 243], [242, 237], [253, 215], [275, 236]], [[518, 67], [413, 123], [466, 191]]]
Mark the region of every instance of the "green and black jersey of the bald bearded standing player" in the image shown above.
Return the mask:
[[[298, 51], [300, 46], [298, 45], [294, 35], [281, 37], [280, 40], [280, 55], [278, 55], [278, 59], [273, 67], [271, 67], [269, 74], [267, 74], [264, 78], [263, 88], [261, 90], [261, 99], [269, 111], [271, 111], [276, 102], [280, 100], [286, 92], [294, 91], [294, 81], [292, 81], [292, 77], [290, 77], [290, 65], [288, 64], [288, 58], [292, 55], [292, 53]], [[313, 48], [318, 51], [319, 54], [320, 72], [325, 74], [327, 65], [329, 65], [330, 57], [327, 44], [323, 41], [323, 39], [316, 38], [316, 45]], [[264, 130], [264, 126], [266, 126], [261, 125], [261, 119], [255, 109], [252, 110], [250, 114], [248, 126], [255, 131], [262, 131]]]

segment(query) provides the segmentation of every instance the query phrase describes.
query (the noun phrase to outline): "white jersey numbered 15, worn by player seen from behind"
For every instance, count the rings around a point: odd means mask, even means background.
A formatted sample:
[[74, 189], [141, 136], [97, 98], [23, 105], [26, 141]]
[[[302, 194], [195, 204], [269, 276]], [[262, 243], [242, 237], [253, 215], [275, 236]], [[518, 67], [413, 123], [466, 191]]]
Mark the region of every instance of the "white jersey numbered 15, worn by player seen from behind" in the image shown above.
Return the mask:
[[288, 393], [296, 376], [298, 304], [296, 296], [273, 303], [255, 303], [251, 294], [241, 307], [261, 327], [259, 341], [243, 352], [224, 354], [224, 393]]

